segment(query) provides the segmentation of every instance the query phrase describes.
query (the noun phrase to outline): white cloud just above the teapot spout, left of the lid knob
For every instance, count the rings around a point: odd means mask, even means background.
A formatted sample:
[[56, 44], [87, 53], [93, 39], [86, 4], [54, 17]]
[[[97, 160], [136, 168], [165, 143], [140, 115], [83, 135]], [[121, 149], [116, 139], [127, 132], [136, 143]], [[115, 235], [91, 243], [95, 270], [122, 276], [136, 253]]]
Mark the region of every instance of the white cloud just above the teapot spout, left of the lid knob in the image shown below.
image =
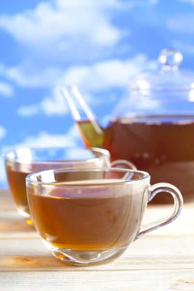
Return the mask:
[[57, 81], [58, 85], [75, 84], [88, 91], [97, 92], [113, 87], [125, 86], [130, 77], [142, 69], [156, 68], [156, 61], [149, 61], [144, 54], [121, 61], [112, 59], [92, 66], [74, 66], [66, 70]]

